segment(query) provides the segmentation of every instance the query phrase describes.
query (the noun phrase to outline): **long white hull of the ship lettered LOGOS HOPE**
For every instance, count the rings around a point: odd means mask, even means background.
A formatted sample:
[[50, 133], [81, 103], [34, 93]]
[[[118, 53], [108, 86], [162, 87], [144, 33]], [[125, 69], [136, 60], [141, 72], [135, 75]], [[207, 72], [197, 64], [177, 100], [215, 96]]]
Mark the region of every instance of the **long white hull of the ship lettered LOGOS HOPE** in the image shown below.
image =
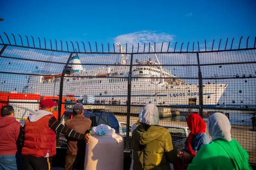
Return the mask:
[[[155, 104], [172, 106], [191, 106], [199, 104], [199, 88], [197, 84], [166, 86], [157, 84], [148, 78], [133, 78], [131, 81], [131, 104]], [[59, 95], [60, 82], [29, 84], [29, 93], [41, 95]], [[226, 84], [204, 84], [203, 104], [216, 105], [221, 98]], [[128, 78], [70, 78], [63, 84], [63, 95], [74, 95], [81, 99], [84, 95], [95, 97], [97, 102], [110, 104], [126, 104], [128, 98]]]

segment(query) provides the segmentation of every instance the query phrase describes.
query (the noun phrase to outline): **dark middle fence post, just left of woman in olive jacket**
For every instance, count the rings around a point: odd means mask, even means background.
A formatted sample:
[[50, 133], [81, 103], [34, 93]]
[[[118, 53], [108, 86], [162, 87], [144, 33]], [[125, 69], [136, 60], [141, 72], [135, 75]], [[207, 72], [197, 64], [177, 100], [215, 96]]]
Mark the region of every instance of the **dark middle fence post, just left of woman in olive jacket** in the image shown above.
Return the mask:
[[127, 94], [127, 117], [126, 117], [126, 146], [125, 150], [129, 149], [130, 144], [130, 113], [131, 113], [131, 70], [132, 70], [132, 59], [133, 54], [131, 54], [131, 63], [130, 63], [130, 70], [128, 75], [128, 94]]

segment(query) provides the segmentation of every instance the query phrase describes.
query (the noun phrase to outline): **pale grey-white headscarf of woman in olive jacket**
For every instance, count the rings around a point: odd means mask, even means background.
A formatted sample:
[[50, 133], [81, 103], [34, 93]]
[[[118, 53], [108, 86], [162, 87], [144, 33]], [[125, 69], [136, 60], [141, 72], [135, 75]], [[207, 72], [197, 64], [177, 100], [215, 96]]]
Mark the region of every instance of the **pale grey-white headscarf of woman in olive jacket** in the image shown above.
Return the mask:
[[159, 122], [158, 108], [154, 104], [147, 104], [140, 111], [139, 121], [143, 124], [157, 125]]

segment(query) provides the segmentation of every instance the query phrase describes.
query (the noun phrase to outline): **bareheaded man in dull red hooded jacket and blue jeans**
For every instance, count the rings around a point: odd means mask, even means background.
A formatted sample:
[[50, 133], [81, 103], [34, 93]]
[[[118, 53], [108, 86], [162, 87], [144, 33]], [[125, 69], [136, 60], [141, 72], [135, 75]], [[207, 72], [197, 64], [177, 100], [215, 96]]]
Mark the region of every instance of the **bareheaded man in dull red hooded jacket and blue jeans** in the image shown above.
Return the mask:
[[23, 129], [12, 106], [4, 106], [0, 117], [0, 170], [21, 170]]

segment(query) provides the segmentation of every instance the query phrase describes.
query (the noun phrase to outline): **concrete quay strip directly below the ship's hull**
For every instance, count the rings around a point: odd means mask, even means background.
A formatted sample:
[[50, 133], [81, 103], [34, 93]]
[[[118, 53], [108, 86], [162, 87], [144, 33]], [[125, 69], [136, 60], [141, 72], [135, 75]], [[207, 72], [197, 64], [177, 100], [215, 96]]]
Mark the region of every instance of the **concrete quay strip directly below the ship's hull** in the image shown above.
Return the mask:
[[[131, 114], [139, 114], [140, 110], [143, 107], [131, 107]], [[84, 109], [87, 110], [100, 110], [101, 112], [110, 112], [110, 113], [127, 113], [127, 107], [126, 106], [106, 106], [106, 105], [84, 105]], [[160, 107], [158, 108], [159, 111], [159, 117], [160, 118], [169, 118], [172, 116], [176, 116], [180, 114], [180, 111], [178, 109], [174, 108], [166, 108], [166, 107]]]

